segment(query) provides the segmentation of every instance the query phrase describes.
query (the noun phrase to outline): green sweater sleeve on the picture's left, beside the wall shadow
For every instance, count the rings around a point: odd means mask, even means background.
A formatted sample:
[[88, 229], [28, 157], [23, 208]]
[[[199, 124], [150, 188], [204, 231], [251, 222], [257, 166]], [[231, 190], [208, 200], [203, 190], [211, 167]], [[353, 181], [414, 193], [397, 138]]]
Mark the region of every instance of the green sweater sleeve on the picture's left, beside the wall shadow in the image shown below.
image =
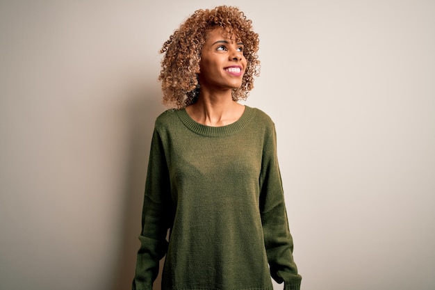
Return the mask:
[[167, 229], [170, 227], [170, 182], [163, 143], [154, 129], [145, 182], [142, 209], [142, 232], [136, 261], [133, 290], [151, 290], [158, 275], [159, 261], [167, 252]]

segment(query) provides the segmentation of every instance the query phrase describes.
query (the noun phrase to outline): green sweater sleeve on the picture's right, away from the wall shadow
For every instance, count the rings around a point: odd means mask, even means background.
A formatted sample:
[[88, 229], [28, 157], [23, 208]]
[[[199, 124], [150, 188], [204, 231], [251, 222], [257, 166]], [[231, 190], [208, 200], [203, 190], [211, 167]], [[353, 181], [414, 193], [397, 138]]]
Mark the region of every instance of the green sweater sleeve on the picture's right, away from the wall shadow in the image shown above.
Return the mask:
[[288, 227], [274, 125], [265, 134], [260, 186], [261, 222], [270, 274], [278, 283], [284, 282], [284, 290], [299, 290], [302, 277], [293, 261], [293, 238]]

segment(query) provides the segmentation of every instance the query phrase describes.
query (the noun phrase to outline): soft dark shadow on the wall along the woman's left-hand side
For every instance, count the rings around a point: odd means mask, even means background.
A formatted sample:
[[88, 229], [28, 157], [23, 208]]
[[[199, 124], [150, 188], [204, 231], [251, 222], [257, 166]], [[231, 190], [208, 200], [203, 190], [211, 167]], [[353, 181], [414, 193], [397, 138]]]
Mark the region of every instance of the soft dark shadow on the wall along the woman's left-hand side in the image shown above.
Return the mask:
[[[131, 289], [136, 267], [136, 253], [139, 249], [138, 236], [141, 227], [142, 202], [145, 177], [149, 159], [149, 147], [156, 117], [165, 110], [161, 105], [161, 92], [154, 84], [133, 92], [128, 107], [129, 152], [126, 152], [127, 166], [122, 209], [122, 236], [117, 253], [112, 290]], [[122, 207], [122, 205], [121, 205]], [[161, 262], [162, 264], [162, 262]], [[154, 290], [160, 290], [160, 278], [154, 283]]]

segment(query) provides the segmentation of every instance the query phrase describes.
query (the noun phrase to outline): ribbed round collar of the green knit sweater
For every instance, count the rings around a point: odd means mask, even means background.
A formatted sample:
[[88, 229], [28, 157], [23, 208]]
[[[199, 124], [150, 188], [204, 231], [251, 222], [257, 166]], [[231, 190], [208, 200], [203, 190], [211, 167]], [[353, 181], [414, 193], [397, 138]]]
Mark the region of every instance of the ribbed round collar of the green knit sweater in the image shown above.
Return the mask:
[[188, 127], [190, 131], [202, 136], [220, 137], [236, 134], [238, 131], [247, 126], [247, 124], [252, 121], [252, 118], [254, 118], [255, 110], [254, 108], [245, 105], [245, 111], [243, 111], [243, 114], [236, 122], [220, 127], [211, 127], [199, 124], [190, 117], [190, 115], [186, 112], [186, 108], [182, 108], [181, 110], [177, 111], [177, 114], [181, 122], [183, 122], [183, 124]]

